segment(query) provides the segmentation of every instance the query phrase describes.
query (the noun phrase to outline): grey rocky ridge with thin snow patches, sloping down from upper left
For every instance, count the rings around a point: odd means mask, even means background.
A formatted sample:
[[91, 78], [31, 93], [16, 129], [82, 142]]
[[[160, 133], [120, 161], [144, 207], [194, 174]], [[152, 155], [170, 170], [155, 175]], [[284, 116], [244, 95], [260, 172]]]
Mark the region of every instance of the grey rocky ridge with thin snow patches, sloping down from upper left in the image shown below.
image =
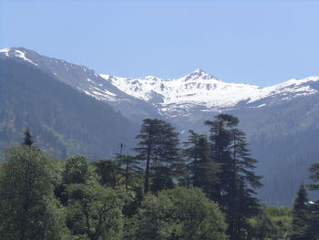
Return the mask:
[[40, 68], [67, 85], [95, 99], [108, 102], [108, 105], [135, 122], [149, 117], [160, 118], [160, 114], [154, 106], [126, 94], [87, 67], [54, 57], [42, 56], [24, 47], [8, 47], [0, 50], [0, 58], [4, 57], [24, 61], [34, 68]]

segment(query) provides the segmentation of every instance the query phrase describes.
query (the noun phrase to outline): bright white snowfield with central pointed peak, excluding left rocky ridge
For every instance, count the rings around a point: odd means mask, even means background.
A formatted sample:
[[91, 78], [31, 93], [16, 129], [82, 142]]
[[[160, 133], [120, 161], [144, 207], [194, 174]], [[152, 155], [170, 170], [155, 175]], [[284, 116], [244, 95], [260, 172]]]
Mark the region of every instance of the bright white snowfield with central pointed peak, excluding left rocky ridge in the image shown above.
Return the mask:
[[100, 74], [130, 96], [151, 103], [167, 117], [190, 116], [194, 111], [261, 108], [318, 92], [319, 77], [291, 79], [261, 88], [242, 83], [227, 83], [201, 69], [176, 79], [152, 76], [117, 78]]

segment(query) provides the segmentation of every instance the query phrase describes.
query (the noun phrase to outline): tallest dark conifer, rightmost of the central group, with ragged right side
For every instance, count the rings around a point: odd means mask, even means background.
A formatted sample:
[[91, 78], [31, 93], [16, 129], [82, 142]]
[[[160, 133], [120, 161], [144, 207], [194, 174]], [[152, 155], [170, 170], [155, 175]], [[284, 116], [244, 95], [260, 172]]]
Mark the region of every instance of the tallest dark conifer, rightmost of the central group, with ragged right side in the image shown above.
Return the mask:
[[229, 114], [215, 118], [205, 122], [211, 131], [211, 159], [221, 166], [212, 200], [226, 214], [230, 239], [240, 240], [248, 231], [247, 219], [258, 213], [255, 189], [262, 186], [261, 177], [253, 172], [257, 161], [250, 156], [244, 132], [237, 129], [239, 120]]

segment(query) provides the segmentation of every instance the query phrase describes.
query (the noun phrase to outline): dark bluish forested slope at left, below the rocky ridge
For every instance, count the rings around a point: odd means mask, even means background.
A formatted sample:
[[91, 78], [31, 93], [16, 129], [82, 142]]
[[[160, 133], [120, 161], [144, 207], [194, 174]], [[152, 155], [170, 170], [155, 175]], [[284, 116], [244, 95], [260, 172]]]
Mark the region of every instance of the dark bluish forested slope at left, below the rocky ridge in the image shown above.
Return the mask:
[[138, 128], [118, 112], [47, 75], [33, 65], [0, 59], [0, 149], [28, 127], [37, 144], [55, 156], [111, 156], [133, 146]]

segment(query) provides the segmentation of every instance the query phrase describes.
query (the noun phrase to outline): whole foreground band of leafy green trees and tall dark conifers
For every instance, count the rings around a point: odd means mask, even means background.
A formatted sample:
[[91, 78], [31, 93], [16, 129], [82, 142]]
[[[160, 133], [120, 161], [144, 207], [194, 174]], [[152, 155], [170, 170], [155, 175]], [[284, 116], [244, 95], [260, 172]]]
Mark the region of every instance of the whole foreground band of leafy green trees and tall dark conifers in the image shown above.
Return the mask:
[[293, 214], [259, 203], [238, 124], [220, 114], [180, 148], [170, 123], [146, 119], [136, 155], [97, 162], [49, 157], [26, 130], [0, 167], [0, 239], [316, 239], [318, 203], [298, 196]]

